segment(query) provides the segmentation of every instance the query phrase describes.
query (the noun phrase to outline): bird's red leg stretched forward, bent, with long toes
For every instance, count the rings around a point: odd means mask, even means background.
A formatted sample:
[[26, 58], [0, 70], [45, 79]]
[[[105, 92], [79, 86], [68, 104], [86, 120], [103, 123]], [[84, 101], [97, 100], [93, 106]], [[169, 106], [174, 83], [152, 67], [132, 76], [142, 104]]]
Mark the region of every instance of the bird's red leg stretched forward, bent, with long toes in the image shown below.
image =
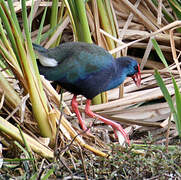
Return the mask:
[[105, 124], [108, 124], [108, 125], [111, 125], [114, 132], [115, 132], [115, 135], [117, 137], [117, 134], [116, 134], [116, 131], [120, 131], [121, 134], [123, 135], [123, 137], [125, 138], [125, 141], [130, 144], [130, 140], [129, 140], [129, 137], [127, 135], [127, 133], [124, 131], [124, 129], [121, 127], [120, 124], [116, 123], [116, 122], [113, 122], [109, 119], [106, 119], [102, 116], [99, 116], [95, 113], [93, 113], [91, 110], [90, 110], [90, 104], [91, 104], [91, 100], [88, 99], [86, 101], [86, 107], [85, 107], [85, 113], [89, 116], [89, 117], [92, 117], [92, 118], [98, 118], [99, 120], [103, 121]]

